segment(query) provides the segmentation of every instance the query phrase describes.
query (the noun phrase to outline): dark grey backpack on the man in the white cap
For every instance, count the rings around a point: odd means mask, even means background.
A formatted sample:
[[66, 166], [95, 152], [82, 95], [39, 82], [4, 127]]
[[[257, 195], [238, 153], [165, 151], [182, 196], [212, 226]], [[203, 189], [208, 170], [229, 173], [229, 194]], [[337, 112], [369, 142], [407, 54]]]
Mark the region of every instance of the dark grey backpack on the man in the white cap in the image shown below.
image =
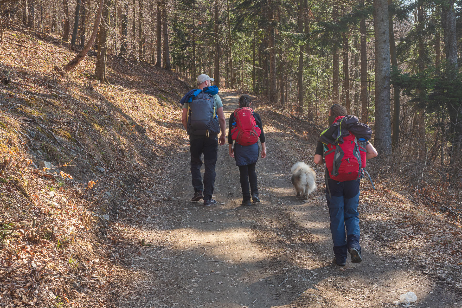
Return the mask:
[[220, 132], [213, 95], [202, 91], [189, 103], [187, 127], [188, 135], [208, 137], [210, 134], [216, 135]]

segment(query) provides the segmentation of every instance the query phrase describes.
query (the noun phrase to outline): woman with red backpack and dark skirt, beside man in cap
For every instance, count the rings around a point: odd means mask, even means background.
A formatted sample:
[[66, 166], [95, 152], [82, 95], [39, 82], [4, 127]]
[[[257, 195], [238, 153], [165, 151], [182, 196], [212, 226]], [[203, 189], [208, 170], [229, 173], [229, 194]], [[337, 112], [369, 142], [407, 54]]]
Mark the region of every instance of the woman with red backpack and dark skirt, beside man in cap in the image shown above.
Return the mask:
[[[230, 156], [236, 160], [241, 175], [242, 205], [250, 206], [250, 199], [259, 203], [257, 175], [255, 164], [258, 161], [261, 143], [261, 158], [266, 157], [265, 134], [260, 115], [250, 107], [252, 98], [249, 95], [239, 97], [239, 108], [230, 115], [228, 143]], [[236, 142], [233, 146], [233, 140]], [[250, 192], [249, 192], [250, 183]], [[251, 195], [250, 195], [251, 193]]]

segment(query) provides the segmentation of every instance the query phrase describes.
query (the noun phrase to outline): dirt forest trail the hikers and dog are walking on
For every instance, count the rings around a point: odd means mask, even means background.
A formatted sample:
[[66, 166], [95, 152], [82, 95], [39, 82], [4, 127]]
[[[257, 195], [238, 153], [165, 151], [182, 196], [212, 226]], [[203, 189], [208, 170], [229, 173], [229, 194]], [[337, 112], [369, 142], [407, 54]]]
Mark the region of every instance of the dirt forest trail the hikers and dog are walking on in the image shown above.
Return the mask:
[[[228, 119], [238, 94], [221, 97]], [[268, 156], [256, 165], [258, 205], [240, 205], [239, 172], [227, 143], [219, 146], [213, 194], [218, 204], [210, 207], [190, 202], [188, 140], [172, 152], [176, 163], [165, 175], [172, 180], [153, 188], [161, 190], [164, 206], [145, 207], [146, 222], [132, 223], [155, 244], [128, 258], [139, 280], [121, 290], [118, 307], [378, 307], [406, 291], [418, 296], [415, 307], [461, 307], [456, 295], [412, 260], [394, 260], [377, 241], [363, 242], [362, 263], [348, 260], [343, 271], [333, 265], [323, 169], [316, 167], [318, 189], [310, 200], [296, 197], [289, 175], [296, 157], [287, 163], [275, 155], [287, 146], [278, 138], [285, 132], [266, 120], [262, 116]], [[314, 152], [315, 145], [308, 146]], [[361, 232], [363, 238], [374, 237], [367, 229]]]

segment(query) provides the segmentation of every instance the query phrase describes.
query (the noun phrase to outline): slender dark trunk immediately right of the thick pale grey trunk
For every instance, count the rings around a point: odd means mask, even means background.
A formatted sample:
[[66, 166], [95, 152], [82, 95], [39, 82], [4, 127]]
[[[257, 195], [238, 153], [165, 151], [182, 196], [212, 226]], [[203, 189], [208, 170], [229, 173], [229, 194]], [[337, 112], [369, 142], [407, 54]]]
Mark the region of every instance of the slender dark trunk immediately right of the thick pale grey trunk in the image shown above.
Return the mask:
[[[392, 4], [391, 0], [388, 0], [388, 5]], [[393, 15], [389, 14], [388, 17], [389, 32], [390, 32], [390, 57], [391, 66], [393, 71], [398, 70], [398, 60], [396, 59], [396, 44], [395, 44], [395, 31], [393, 30]], [[391, 143], [393, 151], [397, 149], [400, 134], [400, 96], [401, 89], [399, 85], [393, 85], [393, 134]]]

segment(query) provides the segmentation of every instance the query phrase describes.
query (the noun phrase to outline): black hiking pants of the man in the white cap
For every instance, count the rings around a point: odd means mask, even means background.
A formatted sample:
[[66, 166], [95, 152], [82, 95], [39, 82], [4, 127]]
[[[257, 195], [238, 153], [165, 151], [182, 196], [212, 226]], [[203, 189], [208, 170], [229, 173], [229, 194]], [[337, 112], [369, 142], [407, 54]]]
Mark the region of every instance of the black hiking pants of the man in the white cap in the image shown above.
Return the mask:
[[[193, 177], [194, 192], [203, 191], [204, 200], [212, 199], [213, 184], [215, 183], [215, 165], [218, 158], [218, 136], [189, 136], [191, 151], [191, 175]], [[204, 154], [204, 184], [201, 177], [201, 155]]]

